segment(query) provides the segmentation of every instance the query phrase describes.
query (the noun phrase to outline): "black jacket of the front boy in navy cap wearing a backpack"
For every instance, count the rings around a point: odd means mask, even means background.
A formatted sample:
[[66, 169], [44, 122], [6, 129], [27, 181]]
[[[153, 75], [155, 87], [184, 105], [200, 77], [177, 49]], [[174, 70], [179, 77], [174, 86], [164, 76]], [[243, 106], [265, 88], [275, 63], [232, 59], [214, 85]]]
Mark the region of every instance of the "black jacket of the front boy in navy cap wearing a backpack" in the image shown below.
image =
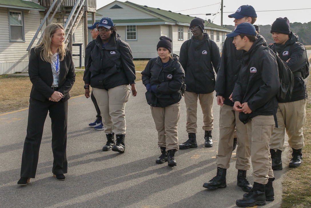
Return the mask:
[[[258, 115], [276, 114], [276, 93], [280, 88], [278, 67], [274, 52], [257, 39], [248, 51], [243, 51], [239, 78], [233, 90], [233, 101], [247, 102], [252, 110], [245, 121]], [[239, 116], [240, 118], [240, 116]]]

